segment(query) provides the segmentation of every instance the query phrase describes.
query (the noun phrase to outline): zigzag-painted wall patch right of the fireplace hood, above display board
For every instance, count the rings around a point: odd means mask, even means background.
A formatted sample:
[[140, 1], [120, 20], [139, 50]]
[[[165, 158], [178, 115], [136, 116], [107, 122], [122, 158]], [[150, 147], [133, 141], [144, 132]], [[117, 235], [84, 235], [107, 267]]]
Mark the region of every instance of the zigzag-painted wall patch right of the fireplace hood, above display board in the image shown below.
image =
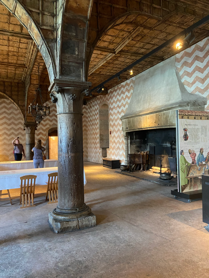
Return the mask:
[[208, 99], [209, 110], [209, 37], [176, 55], [176, 68], [188, 92]]

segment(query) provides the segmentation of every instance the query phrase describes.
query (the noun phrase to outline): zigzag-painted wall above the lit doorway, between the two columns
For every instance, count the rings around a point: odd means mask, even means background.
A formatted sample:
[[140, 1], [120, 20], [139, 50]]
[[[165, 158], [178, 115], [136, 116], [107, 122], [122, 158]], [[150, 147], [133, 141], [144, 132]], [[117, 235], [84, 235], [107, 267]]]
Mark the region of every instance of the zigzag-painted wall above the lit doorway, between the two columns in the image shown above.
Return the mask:
[[41, 139], [42, 146], [44, 146], [44, 148], [46, 148], [46, 140], [48, 140], [48, 130], [57, 126], [56, 104], [49, 100], [46, 102], [46, 105], [50, 105], [50, 115], [40, 122], [35, 132], [35, 142], [38, 139]]

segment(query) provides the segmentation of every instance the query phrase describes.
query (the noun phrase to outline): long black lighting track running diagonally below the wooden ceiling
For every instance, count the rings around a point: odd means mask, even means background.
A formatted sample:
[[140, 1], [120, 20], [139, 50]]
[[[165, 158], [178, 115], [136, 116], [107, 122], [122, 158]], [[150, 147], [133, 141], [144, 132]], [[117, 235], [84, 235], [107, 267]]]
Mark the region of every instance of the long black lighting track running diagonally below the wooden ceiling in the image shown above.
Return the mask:
[[125, 67], [124, 69], [122, 69], [120, 72], [116, 73], [115, 75], [111, 76], [110, 78], [108, 78], [107, 80], [103, 81], [102, 83], [100, 83], [99, 85], [97, 85], [96, 87], [94, 87], [93, 89], [91, 89], [91, 92], [93, 92], [94, 90], [96, 90], [97, 88], [100, 87], [104, 87], [104, 84], [109, 82], [110, 80], [114, 79], [114, 78], [118, 78], [118, 80], [121, 80], [120, 75], [123, 72], [126, 72], [127, 70], [131, 69], [132, 67], [134, 67], [135, 65], [137, 65], [138, 63], [140, 63], [141, 61], [149, 58], [150, 56], [152, 56], [153, 54], [155, 54], [156, 52], [158, 52], [159, 50], [163, 49], [164, 47], [166, 47], [167, 45], [175, 42], [176, 40], [178, 40], [180, 37], [182, 37], [183, 35], [186, 35], [190, 32], [192, 32], [194, 29], [198, 28], [199, 26], [205, 24], [206, 22], [208, 22], [209, 20], [209, 15], [205, 16], [204, 18], [200, 19], [199, 21], [197, 21], [196, 23], [194, 23], [193, 25], [189, 26], [188, 28], [186, 28], [185, 30], [183, 30], [182, 32], [180, 32], [179, 34], [177, 34], [176, 36], [172, 37], [170, 40], [167, 40], [166, 42], [164, 42], [163, 44], [159, 45], [158, 47], [156, 47], [155, 49], [153, 49], [152, 51], [150, 51], [149, 53], [145, 54], [143, 57], [141, 57], [140, 59], [136, 60], [135, 62], [133, 62], [132, 64], [130, 64], [129, 66]]

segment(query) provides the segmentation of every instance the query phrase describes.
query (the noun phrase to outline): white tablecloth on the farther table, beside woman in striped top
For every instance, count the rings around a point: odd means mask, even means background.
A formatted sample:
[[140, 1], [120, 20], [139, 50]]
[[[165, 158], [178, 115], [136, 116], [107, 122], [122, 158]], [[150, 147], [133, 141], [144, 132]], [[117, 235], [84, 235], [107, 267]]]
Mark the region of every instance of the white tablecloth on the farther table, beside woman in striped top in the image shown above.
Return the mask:
[[[57, 167], [56, 159], [46, 159], [44, 160], [44, 168], [48, 167]], [[33, 160], [23, 160], [23, 161], [6, 161], [0, 162], [0, 171], [9, 171], [9, 170], [22, 170], [22, 169], [32, 169]]]

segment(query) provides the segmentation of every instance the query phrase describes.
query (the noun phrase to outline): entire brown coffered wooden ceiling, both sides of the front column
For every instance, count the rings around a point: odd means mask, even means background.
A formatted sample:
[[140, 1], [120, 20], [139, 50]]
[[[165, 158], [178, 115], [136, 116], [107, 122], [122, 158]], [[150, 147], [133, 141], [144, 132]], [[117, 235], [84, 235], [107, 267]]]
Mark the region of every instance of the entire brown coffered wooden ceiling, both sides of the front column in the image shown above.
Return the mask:
[[[56, 33], [54, 1], [20, 2], [28, 7], [29, 14], [52, 47]], [[58, 1], [59, 11], [60, 3]], [[208, 14], [208, 0], [94, 0], [86, 58], [91, 88]], [[58, 19], [58, 29], [60, 22]], [[202, 25], [195, 33], [196, 38], [192, 44], [209, 36], [209, 24]], [[176, 53], [174, 46], [168, 45], [137, 64], [132, 76]], [[43, 98], [49, 100], [49, 75], [38, 47], [27, 29], [0, 4], [0, 93], [10, 97], [20, 107], [23, 115], [34, 99], [38, 85], [38, 64]], [[106, 83], [105, 87], [110, 89], [132, 76], [124, 72], [120, 81], [115, 78]], [[96, 91], [92, 94], [94, 97], [98, 95]], [[92, 98], [84, 97], [84, 100], [89, 99]]]

